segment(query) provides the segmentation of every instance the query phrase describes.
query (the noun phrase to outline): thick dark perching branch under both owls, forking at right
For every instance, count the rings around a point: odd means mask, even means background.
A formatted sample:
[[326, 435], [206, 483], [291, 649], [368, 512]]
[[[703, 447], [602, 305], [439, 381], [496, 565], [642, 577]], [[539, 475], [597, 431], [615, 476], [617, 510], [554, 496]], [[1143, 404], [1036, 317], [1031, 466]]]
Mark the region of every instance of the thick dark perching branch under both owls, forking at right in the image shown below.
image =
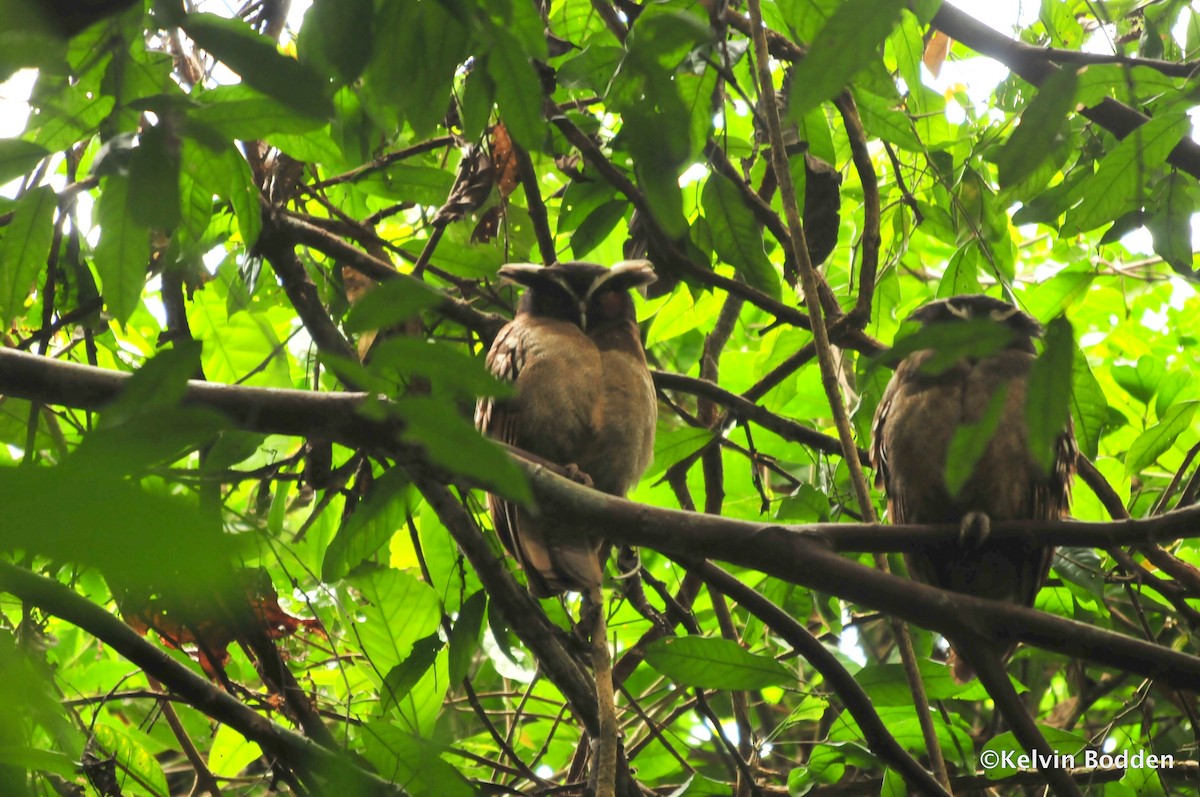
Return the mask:
[[[120, 390], [124, 374], [0, 349], [0, 394], [84, 409], [98, 409]], [[361, 418], [364, 394], [232, 388], [192, 382], [185, 401], [221, 411], [248, 431], [324, 435], [354, 447], [386, 447], [402, 462], [420, 465], [418, 449], [395, 441], [392, 426]], [[518, 460], [518, 462], [522, 462]], [[894, 613], [952, 640], [991, 633], [1036, 647], [1121, 667], [1200, 691], [1200, 659], [1030, 609], [948, 593], [859, 565], [838, 550], [908, 551], [956, 539], [954, 526], [860, 523], [768, 526], [660, 509], [606, 496], [522, 462], [534, 495], [564, 517], [587, 519], [613, 543], [643, 545], [673, 556], [721, 559], [792, 583]], [[994, 539], [1031, 539], [1042, 545], [1112, 547], [1194, 535], [1200, 508], [1146, 520], [998, 522]]]

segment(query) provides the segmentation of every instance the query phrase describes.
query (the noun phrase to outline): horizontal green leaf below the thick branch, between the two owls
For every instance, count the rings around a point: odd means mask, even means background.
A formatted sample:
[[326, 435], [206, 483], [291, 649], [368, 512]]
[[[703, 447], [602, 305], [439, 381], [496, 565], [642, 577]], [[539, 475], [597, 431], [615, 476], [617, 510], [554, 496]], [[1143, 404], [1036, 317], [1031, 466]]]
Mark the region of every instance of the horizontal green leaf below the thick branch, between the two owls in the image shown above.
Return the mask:
[[698, 689], [761, 689], [796, 681], [796, 673], [770, 657], [704, 636], [656, 640], [646, 648], [646, 663], [676, 683]]

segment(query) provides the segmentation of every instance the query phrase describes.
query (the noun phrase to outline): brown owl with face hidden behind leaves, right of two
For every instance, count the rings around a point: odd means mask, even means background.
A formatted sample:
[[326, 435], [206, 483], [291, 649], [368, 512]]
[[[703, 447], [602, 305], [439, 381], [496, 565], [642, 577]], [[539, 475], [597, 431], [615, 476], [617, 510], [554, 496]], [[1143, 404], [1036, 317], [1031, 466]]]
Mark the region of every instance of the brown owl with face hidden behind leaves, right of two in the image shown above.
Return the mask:
[[[962, 358], [948, 370], [922, 373], [936, 352], [914, 352], [900, 362], [875, 413], [871, 461], [888, 496], [894, 523], [962, 523], [964, 537], [986, 535], [988, 521], [1062, 517], [1070, 497], [1078, 449], [1068, 418], [1050, 472], [1043, 474], [1027, 443], [1025, 396], [1034, 361], [1037, 320], [983, 295], [930, 302], [912, 314], [925, 325], [991, 318], [1012, 330], [1013, 342], [980, 359]], [[979, 421], [997, 389], [1007, 385], [1000, 424], [956, 497], [944, 483], [954, 431]], [[978, 543], [978, 540], [977, 540]], [[943, 543], [907, 557], [914, 579], [978, 598], [1032, 606], [1050, 570], [1054, 549], [1022, 541]], [[1015, 645], [1002, 651], [1012, 655]], [[954, 660], [955, 677], [971, 667]]]

